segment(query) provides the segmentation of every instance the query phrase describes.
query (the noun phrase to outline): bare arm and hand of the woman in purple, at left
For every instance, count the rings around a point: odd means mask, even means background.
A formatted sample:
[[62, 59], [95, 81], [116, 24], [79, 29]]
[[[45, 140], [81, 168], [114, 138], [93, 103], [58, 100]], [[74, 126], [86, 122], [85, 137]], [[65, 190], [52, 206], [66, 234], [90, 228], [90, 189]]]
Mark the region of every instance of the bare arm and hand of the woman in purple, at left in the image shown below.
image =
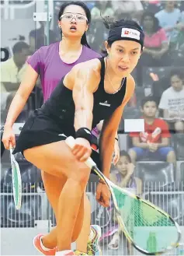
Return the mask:
[[19, 89], [12, 100], [6, 117], [4, 133], [2, 136], [2, 142], [5, 149], [9, 149], [9, 142], [12, 143], [13, 147], [16, 146], [16, 139], [14, 133], [12, 132], [12, 125], [16, 121], [16, 118], [19, 117], [23, 107], [26, 105], [26, 101], [36, 84], [37, 78], [38, 73], [30, 65], [27, 65], [23, 81], [21, 82]]

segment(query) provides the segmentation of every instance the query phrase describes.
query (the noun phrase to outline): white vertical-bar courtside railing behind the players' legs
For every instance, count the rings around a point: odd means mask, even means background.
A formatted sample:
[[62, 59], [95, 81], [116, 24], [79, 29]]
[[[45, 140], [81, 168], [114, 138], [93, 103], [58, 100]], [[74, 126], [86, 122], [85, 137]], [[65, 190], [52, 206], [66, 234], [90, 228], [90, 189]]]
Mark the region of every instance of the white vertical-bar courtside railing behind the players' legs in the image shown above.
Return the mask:
[[[140, 254], [129, 246], [123, 233], [120, 233], [118, 243], [116, 242], [114, 234], [118, 230], [118, 225], [116, 218], [114, 218], [113, 209], [100, 208], [100, 205], [95, 201], [95, 187], [96, 184], [89, 184], [87, 195], [92, 205], [92, 225], [99, 225], [102, 228], [100, 239], [102, 254]], [[39, 233], [39, 229], [49, 232], [56, 225], [54, 212], [50, 207], [42, 184], [23, 184], [23, 202], [19, 211], [16, 211], [14, 206], [12, 184], [2, 184], [0, 195], [2, 229], [32, 228], [37, 229]], [[184, 255], [184, 184], [182, 182], [169, 185], [143, 183], [142, 197], [164, 209], [179, 223], [182, 230], [181, 244], [168, 255]]]

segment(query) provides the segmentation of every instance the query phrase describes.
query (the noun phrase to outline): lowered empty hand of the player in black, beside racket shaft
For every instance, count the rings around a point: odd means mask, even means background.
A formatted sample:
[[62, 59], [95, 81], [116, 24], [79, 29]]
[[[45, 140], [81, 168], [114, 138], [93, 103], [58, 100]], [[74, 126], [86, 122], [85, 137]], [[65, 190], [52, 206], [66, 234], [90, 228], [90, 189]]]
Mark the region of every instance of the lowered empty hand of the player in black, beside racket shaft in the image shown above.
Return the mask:
[[99, 183], [97, 185], [95, 198], [103, 207], [109, 207], [110, 191], [106, 184]]

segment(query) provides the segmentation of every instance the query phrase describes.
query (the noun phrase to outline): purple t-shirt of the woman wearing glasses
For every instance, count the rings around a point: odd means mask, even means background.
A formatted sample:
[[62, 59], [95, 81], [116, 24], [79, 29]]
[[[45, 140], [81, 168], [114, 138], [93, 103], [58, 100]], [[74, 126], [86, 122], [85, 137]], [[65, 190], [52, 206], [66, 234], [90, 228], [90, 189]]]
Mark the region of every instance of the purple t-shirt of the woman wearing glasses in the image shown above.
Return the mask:
[[100, 54], [92, 51], [88, 47], [82, 47], [82, 54], [77, 61], [67, 64], [61, 60], [59, 55], [59, 42], [48, 46], [40, 47], [28, 60], [28, 64], [40, 75], [41, 86], [43, 89], [44, 101], [57, 86], [61, 78], [71, 71], [76, 64], [89, 61], [93, 58], [101, 57]]

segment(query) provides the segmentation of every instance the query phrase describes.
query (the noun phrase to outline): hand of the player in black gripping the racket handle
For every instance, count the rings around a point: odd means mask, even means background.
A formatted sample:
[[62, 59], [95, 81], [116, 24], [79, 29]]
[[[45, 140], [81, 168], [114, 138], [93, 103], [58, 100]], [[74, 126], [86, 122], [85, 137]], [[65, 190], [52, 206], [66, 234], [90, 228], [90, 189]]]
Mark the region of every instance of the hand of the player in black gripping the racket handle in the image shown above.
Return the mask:
[[87, 139], [77, 138], [75, 139], [75, 146], [71, 149], [71, 152], [80, 162], [85, 162], [91, 156], [92, 149]]

